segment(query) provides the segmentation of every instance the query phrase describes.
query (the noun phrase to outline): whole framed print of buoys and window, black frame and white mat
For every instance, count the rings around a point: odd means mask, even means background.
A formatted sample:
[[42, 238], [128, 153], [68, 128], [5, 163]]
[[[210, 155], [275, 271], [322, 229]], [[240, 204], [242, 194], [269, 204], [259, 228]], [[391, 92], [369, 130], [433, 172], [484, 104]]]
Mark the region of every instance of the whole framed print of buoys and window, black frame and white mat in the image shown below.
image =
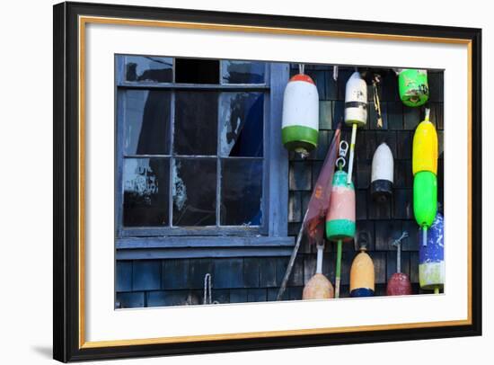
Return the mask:
[[54, 6], [54, 358], [481, 334], [481, 30]]

